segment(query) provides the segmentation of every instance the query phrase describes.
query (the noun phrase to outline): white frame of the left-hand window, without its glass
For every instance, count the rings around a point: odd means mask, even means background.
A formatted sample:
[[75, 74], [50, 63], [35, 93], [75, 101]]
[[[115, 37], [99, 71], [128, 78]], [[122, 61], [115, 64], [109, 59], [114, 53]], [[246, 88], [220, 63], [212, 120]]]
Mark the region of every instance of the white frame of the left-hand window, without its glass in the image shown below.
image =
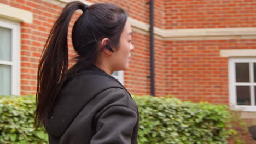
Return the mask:
[[11, 66], [11, 95], [20, 95], [20, 23], [0, 19], [0, 27], [11, 29], [11, 62], [0, 64]]

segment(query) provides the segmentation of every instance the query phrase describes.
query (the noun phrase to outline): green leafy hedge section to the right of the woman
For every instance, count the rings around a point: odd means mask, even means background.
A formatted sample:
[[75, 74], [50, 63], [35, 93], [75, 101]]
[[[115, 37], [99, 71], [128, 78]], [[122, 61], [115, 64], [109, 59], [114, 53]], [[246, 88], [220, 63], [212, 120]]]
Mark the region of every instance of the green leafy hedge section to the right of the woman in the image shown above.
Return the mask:
[[140, 111], [138, 143], [227, 143], [227, 106], [177, 98], [133, 97]]

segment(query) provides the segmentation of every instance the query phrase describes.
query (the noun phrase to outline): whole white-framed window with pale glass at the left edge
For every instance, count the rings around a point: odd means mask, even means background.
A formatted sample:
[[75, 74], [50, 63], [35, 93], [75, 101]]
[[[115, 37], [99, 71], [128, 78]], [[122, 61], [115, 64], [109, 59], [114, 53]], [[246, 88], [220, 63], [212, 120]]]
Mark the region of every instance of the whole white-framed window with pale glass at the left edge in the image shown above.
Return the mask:
[[0, 95], [20, 94], [20, 24], [0, 19]]

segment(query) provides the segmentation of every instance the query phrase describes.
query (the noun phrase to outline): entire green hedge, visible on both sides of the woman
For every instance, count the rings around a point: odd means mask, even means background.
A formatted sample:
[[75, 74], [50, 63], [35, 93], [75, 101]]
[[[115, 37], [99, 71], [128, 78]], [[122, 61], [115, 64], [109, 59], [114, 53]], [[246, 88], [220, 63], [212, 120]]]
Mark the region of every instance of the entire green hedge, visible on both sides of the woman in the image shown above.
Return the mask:
[[[139, 111], [138, 143], [227, 143], [227, 107], [176, 98], [133, 96]], [[34, 96], [0, 97], [0, 143], [47, 143], [41, 127], [33, 128]]]

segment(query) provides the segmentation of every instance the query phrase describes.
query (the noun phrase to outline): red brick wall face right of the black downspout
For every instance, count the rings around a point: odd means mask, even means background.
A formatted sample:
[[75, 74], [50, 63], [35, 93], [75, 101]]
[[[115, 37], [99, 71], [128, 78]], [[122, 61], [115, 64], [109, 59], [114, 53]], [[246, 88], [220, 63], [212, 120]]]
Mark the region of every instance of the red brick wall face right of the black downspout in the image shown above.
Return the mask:
[[[164, 1], [165, 29], [256, 27], [256, 1]], [[256, 40], [165, 42], [166, 94], [228, 104], [228, 58], [221, 49], [256, 49]]]

